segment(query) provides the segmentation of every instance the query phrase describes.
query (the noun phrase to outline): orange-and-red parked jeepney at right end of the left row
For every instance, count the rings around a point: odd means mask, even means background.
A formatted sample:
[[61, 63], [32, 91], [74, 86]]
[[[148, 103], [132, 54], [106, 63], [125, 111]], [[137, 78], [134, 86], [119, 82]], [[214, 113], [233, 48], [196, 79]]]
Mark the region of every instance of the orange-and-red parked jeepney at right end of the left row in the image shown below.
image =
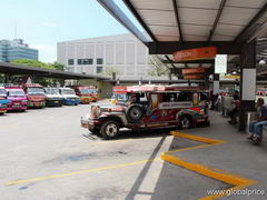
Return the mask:
[[96, 102], [98, 99], [98, 92], [96, 87], [85, 87], [85, 86], [72, 86], [72, 89], [75, 89], [75, 92], [78, 97], [80, 97], [81, 103], [90, 103]]

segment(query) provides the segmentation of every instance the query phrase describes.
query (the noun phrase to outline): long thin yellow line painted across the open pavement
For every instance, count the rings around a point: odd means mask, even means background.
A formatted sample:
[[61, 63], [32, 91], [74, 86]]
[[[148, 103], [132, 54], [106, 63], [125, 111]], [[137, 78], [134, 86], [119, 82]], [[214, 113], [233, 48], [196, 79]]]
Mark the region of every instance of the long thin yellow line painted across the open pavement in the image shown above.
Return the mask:
[[108, 167], [96, 168], [96, 169], [73, 171], [73, 172], [69, 172], [69, 173], [59, 173], [59, 174], [52, 174], [52, 176], [47, 176], [47, 177], [38, 177], [38, 178], [33, 178], [33, 179], [10, 181], [7, 184], [12, 186], [12, 184], [24, 183], [24, 182], [33, 182], [33, 181], [40, 181], [40, 180], [70, 177], [70, 176], [75, 176], [75, 174], [97, 172], [97, 171], [109, 170], [109, 169], [118, 169], [118, 168], [125, 168], [125, 167], [129, 167], [129, 166], [141, 164], [141, 163], [146, 163], [146, 162], [152, 162], [152, 161], [157, 161], [157, 160], [160, 160], [160, 158], [155, 158], [155, 159], [150, 159], [150, 160], [141, 160], [141, 161], [136, 161], [136, 162], [128, 162], [128, 163], [116, 164], [116, 166], [108, 166]]

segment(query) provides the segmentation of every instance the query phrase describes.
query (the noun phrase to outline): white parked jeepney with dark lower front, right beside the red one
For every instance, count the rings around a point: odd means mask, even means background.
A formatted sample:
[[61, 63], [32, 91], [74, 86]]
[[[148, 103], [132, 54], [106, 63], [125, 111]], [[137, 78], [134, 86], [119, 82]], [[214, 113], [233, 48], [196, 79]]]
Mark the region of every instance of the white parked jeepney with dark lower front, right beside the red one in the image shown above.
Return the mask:
[[63, 104], [63, 97], [60, 94], [58, 88], [43, 88], [46, 93], [47, 107], [61, 107]]

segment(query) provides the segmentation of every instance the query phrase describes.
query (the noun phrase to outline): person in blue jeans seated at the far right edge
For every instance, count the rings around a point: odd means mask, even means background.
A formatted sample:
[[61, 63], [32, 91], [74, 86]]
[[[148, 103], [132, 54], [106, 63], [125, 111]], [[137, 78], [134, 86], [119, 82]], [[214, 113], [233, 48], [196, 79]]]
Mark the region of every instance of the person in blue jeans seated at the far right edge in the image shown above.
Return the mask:
[[249, 137], [247, 139], [254, 140], [255, 143], [260, 143], [263, 138], [263, 127], [267, 126], [267, 108], [264, 107], [264, 99], [257, 100], [257, 121], [249, 123]]

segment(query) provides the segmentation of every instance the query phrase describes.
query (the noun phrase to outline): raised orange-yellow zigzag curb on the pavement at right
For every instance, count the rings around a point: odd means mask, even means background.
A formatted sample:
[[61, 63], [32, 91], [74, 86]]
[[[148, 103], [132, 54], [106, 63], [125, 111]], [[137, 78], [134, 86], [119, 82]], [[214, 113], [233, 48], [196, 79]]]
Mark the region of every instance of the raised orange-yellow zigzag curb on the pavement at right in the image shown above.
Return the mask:
[[206, 147], [210, 147], [210, 146], [221, 144], [221, 143], [225, 143], [226, 141], [180, 133], [177, 131], [171, 131], [171, 134], [175, 137], [180, 137], [180, 138], [186, 138], [186, 139], [190, 139], [190, 140], [195, 140], [195, 141], [205, 142], [206, 144], [199, 144], [199, 146], [191, 147], [191, 148], [184, 148], [184, 149], [179, 149], [179, 150], [164, 152], [160, 156], [160, 158], [162, 160], [174, 163], [176, 166], [180, 166], [182, 168], [186, 168], [186, 169], [197, 172], [199, 174], [202, 174], [202, 176], [206, 176], [206, 177], [209, 177], [215, 180], [219, 180], [221, 182], [233, 186], [229, 189], [222, 190], [224, 192], [221, 192], [220, 194], [207, 196], [207, 197], [201, 198], [201, 200], [212, 200], [216, 198], [220, 198], [222, 196], [226, 196], [227, 192], [229, 192], [229, 191], [243, 189], [248, 186], [257, 183], [254, 180], [241, 178], [236, 174], [231, 174], [231, 173], [228, 173], [228, 172], [225, 172], [221, 170], [211, 169], [206, 166], [198, 164], [198, 163], [186, 162], [186, 161], [181, 160], [180, 158], [170, 154], [172, 152], [178, 152], [178, 151], [185, 151], [185, 150], [199, 149], [199, 148], [206, 148]]

